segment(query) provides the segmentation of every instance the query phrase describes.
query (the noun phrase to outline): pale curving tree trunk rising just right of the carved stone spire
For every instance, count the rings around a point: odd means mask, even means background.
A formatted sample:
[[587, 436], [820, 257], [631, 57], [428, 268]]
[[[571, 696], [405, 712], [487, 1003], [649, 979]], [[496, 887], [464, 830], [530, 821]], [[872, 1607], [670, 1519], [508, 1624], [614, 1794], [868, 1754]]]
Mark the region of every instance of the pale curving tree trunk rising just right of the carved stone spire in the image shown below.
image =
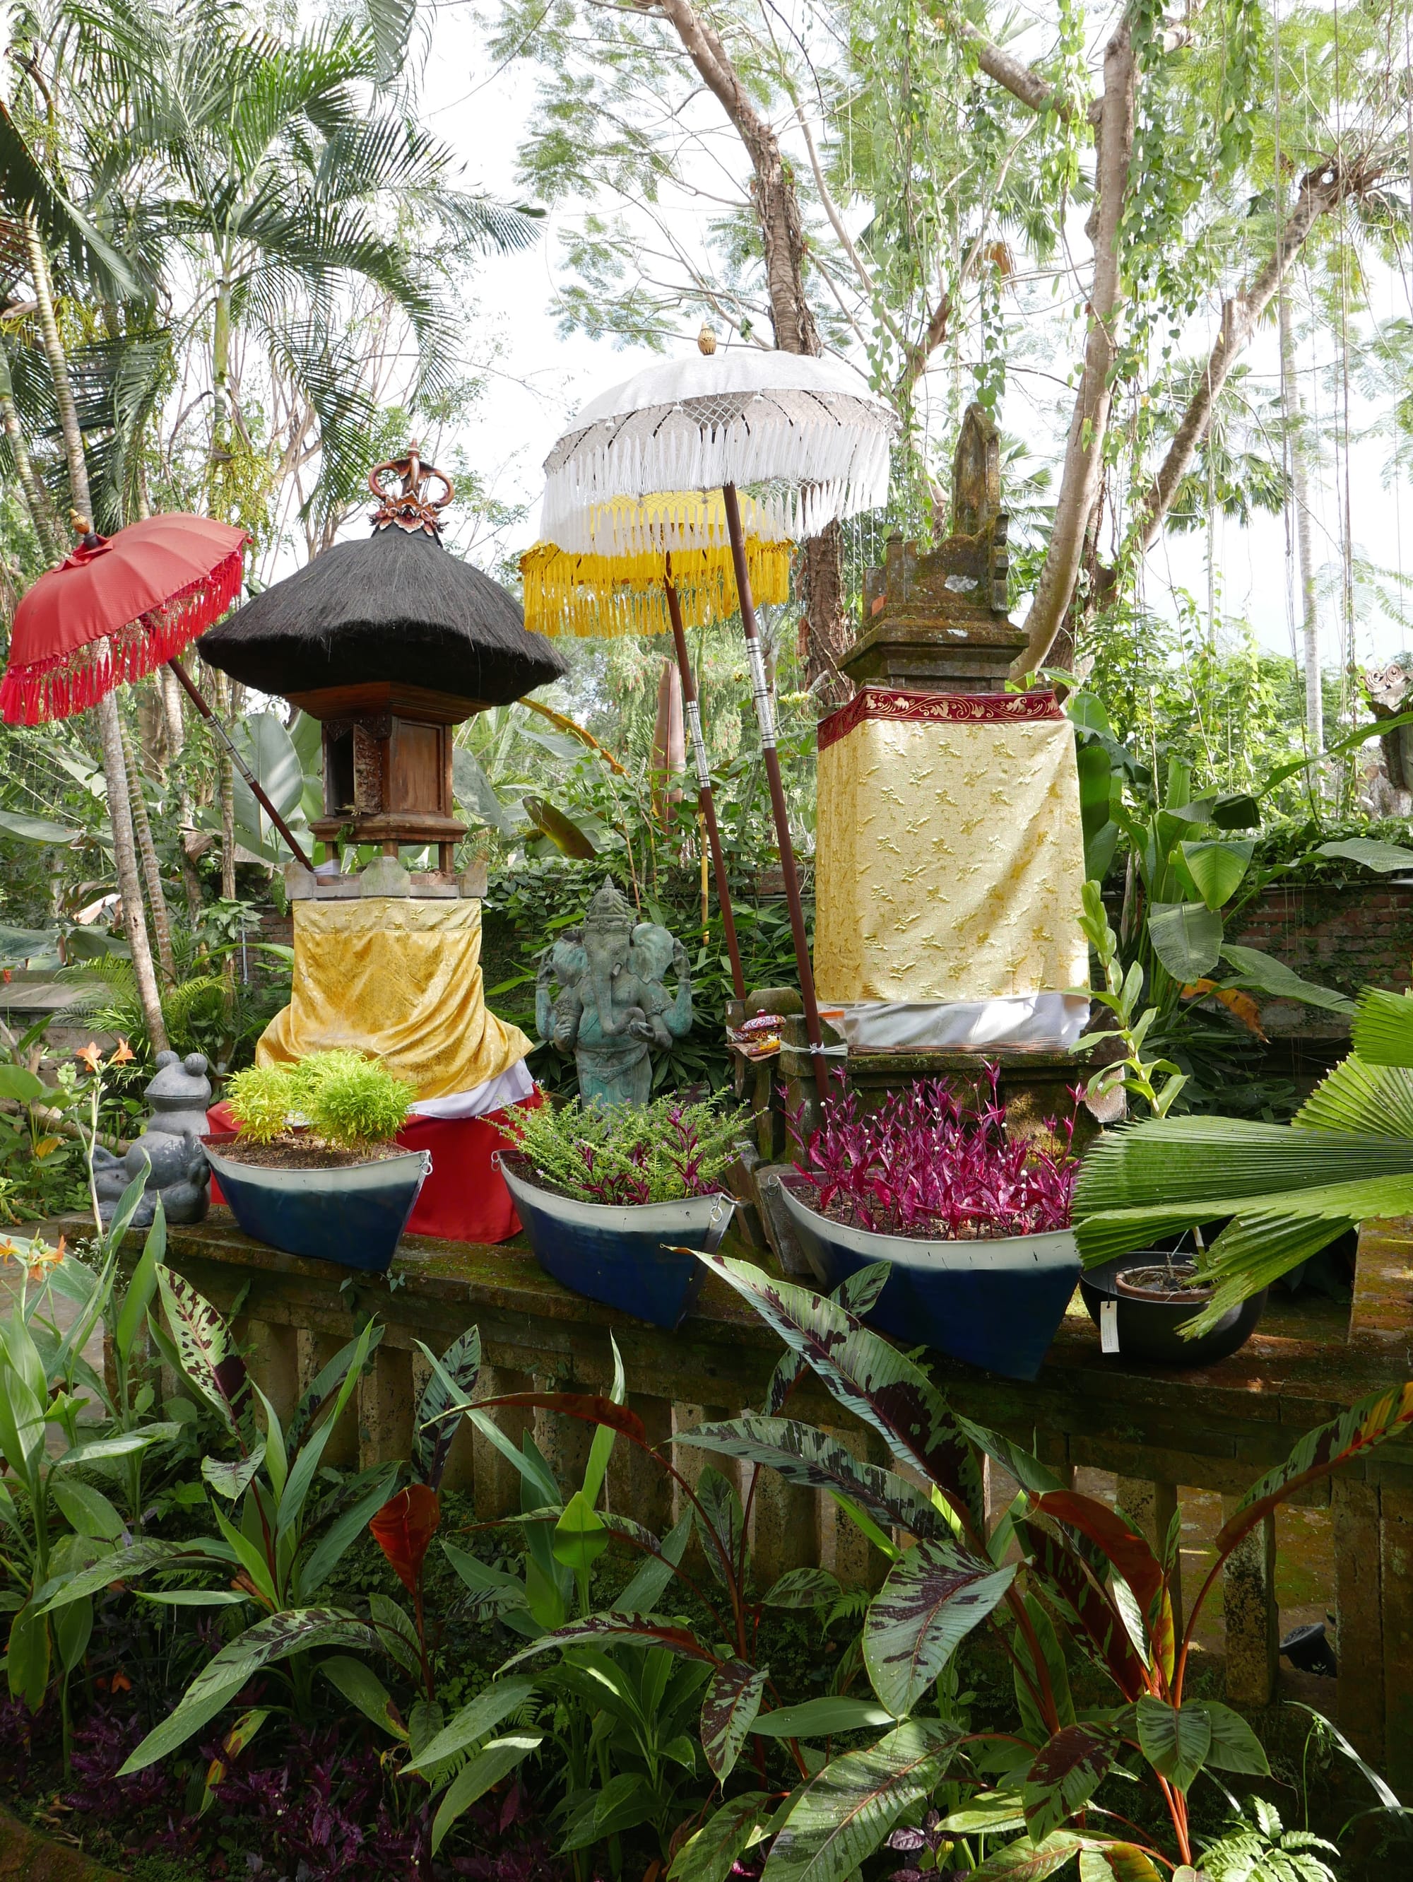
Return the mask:
[[1050, 531], [1040, 580], [1025, 617], [1025, 651], [1012, 664], [1016, 678], [1033, 674], [1059, 632], [1074, 593], [1084, 555], [1084, 533], [1099, 493], [1104, 469], [1104, 435], [1112, 401], [1110, 373], [1116, 359], [1114, 320], [1119, 307], [1119, 220], [1129, 194], [1129, 156], [1133, 152], [1133, 98], [1136, 66], [1129, 21], [1104, 47], [1104, 96], [1099, 107], [1095, 152], [1095, 205], [1089, 239], [1095, 265], [1089, 286], [1089, 327], [1084, 343], [1084, 371], [1074, 397], [1059, 501]]

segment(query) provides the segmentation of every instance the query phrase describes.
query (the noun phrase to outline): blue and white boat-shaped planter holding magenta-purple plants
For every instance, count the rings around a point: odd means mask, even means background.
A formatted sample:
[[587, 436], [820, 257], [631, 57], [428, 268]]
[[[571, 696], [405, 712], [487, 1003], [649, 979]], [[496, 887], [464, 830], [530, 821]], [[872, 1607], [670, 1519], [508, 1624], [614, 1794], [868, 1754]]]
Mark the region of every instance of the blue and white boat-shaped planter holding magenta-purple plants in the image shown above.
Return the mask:
[[788, 1182], [781, 1195], [822, 1287], [875, 1261], [892, 1263], [869, 1325], [1008, 1380], [1033, 1380], [1040, 1370], [1080, 1278], [1069, 1229], [999, 1242], [877, 1235], [830, 1221]]

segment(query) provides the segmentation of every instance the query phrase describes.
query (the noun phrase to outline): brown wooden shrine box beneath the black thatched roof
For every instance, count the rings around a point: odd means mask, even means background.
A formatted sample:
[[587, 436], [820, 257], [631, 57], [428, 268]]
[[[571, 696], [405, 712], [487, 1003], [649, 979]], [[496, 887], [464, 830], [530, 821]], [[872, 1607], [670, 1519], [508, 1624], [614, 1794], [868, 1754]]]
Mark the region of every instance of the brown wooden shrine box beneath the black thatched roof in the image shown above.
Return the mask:
[[324, 728], [324, 817], [314, 836], [376, 843], [395, 856], [403, 843], [437, 843], [450, 875], [467, 834], [452, 798], [452, 730], [482, 711], [482, 700], [435, 693], [401, 679], [292, 693], [290, 704]]

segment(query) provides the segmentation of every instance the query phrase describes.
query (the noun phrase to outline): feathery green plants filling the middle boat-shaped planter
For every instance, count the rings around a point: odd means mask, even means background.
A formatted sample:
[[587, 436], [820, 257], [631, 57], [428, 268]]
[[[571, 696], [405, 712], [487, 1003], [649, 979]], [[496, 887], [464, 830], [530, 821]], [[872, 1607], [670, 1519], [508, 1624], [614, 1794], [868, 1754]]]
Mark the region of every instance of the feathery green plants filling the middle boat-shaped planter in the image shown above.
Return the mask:
[[578, 1101], [506, 1116], [506, 1135], [540, 1182], [581, 1203], [677, 1203], [722, 1189], [741, 1120], [719, 1101], [583, 1108]]

